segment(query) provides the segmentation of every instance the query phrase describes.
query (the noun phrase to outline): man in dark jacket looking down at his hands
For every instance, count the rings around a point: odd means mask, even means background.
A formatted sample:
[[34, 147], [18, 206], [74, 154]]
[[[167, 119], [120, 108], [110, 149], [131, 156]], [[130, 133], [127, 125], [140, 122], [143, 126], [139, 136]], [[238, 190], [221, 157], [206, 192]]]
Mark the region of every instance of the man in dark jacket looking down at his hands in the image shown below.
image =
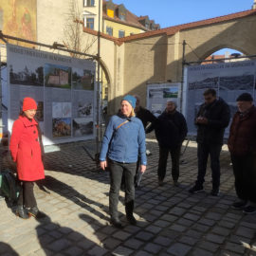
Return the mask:
[[216, 91], [204, 92], [205, 102], [200, 106], [195, 124], [197, 125], [198, 174], [195, 185], [190, 192], [201, 192], [204, 187], [208, 157], [212, 177], [211, 195], [219, 195], [220, 187], [220, 153], [223, 145], [225, 128], [229, 125], [229, 105], [222, 99], [216, 99]]

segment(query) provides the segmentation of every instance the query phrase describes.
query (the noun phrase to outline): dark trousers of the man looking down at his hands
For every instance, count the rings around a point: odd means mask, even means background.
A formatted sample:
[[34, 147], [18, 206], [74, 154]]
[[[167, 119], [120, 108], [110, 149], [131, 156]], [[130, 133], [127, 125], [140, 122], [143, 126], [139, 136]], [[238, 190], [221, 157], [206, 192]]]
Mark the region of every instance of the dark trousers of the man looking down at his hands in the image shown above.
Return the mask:
[[197, 144], [198, 174], [196, 186], [203, 187], [207, 170], [208, 157], [210, 155], [210, 169], [212, 178], [212, 189], [220, 187], [220, 153], [222, 145]]

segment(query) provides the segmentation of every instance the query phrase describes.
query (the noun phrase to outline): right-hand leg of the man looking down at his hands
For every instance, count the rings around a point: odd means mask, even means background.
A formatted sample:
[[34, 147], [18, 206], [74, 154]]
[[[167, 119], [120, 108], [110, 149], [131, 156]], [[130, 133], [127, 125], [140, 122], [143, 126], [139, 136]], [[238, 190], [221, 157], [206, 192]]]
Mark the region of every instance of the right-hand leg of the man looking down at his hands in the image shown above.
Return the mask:
[[222, 145], [210, 145], [210, 169], [212, 177], [212, 195], [218, 195], [220, 188], [220, 153]]

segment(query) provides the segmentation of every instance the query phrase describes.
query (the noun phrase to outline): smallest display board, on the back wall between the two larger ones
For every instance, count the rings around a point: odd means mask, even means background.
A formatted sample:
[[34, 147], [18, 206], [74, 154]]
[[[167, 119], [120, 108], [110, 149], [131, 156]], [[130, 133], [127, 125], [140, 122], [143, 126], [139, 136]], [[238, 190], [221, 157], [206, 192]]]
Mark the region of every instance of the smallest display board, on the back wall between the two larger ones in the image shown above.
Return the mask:
[[156, 117], [166, 108], [167, 101], [174, 101], [180, 109], [180, 83], [152, 83], [147, 86], [147, 109]]

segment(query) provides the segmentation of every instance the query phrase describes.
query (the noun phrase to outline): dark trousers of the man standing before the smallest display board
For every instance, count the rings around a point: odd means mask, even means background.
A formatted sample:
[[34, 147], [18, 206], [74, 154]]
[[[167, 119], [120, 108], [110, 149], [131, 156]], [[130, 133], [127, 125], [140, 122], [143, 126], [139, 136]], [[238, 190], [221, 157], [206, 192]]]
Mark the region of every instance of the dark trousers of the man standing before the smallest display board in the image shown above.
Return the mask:
[[166, 174], [167, 159], [170, 153], [172, 158], [172, 177], [178, 180], [179, 177], [179, 157], [181, 145], [174, 149], [167, 149], [159, 146], [159, 160], [158, 160], [158, 179], [163, 180]]

